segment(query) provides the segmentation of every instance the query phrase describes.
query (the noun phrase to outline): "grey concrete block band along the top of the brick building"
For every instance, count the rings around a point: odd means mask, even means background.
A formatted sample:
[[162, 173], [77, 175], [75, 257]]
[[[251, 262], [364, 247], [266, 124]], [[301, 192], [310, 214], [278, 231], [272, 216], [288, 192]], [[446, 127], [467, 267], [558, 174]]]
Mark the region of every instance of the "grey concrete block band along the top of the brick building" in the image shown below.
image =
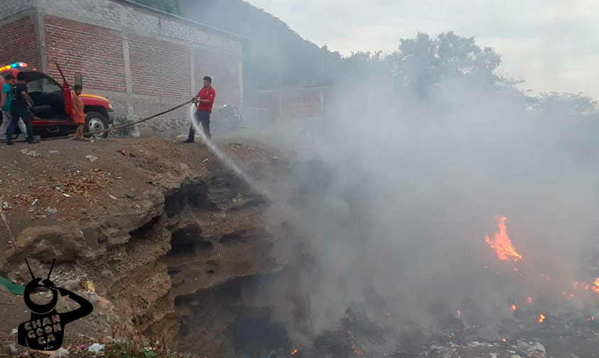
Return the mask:
[[[242, 36], [154, 11], [125, 0], [26, 0], [38, 11], [73, 21], [113, 28], [123, 33], [168, 39], [183, 45], [207, 46], [242, 55]], [[25, 2], [25, 1], [23, 1]], [[21, 4], [19, 4], [21, 6]], [[25, 6], [21, 6], [25, 7]], [[3, 16], [4, 17], [4, 16]]]

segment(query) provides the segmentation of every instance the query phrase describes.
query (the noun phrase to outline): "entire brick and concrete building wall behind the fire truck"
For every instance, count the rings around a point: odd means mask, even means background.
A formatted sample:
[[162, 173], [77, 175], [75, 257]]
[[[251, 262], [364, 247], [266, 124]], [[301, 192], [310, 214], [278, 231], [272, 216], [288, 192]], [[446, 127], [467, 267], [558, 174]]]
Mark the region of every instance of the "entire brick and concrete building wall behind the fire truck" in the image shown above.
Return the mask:
[[[0, 63], [21, 60], [108, 97], [119, 114], [147, 116], [184, 102], [210, 75], [215, 105], [243, 104], [242, 43], [210, 26], [126, 0], [0, 0]], [[188, 110], [166, 115], [179, 123]], [[162, 119], [159, 119], [162, 120]], [[159, 126], [162, 127], [162, 126]]]

